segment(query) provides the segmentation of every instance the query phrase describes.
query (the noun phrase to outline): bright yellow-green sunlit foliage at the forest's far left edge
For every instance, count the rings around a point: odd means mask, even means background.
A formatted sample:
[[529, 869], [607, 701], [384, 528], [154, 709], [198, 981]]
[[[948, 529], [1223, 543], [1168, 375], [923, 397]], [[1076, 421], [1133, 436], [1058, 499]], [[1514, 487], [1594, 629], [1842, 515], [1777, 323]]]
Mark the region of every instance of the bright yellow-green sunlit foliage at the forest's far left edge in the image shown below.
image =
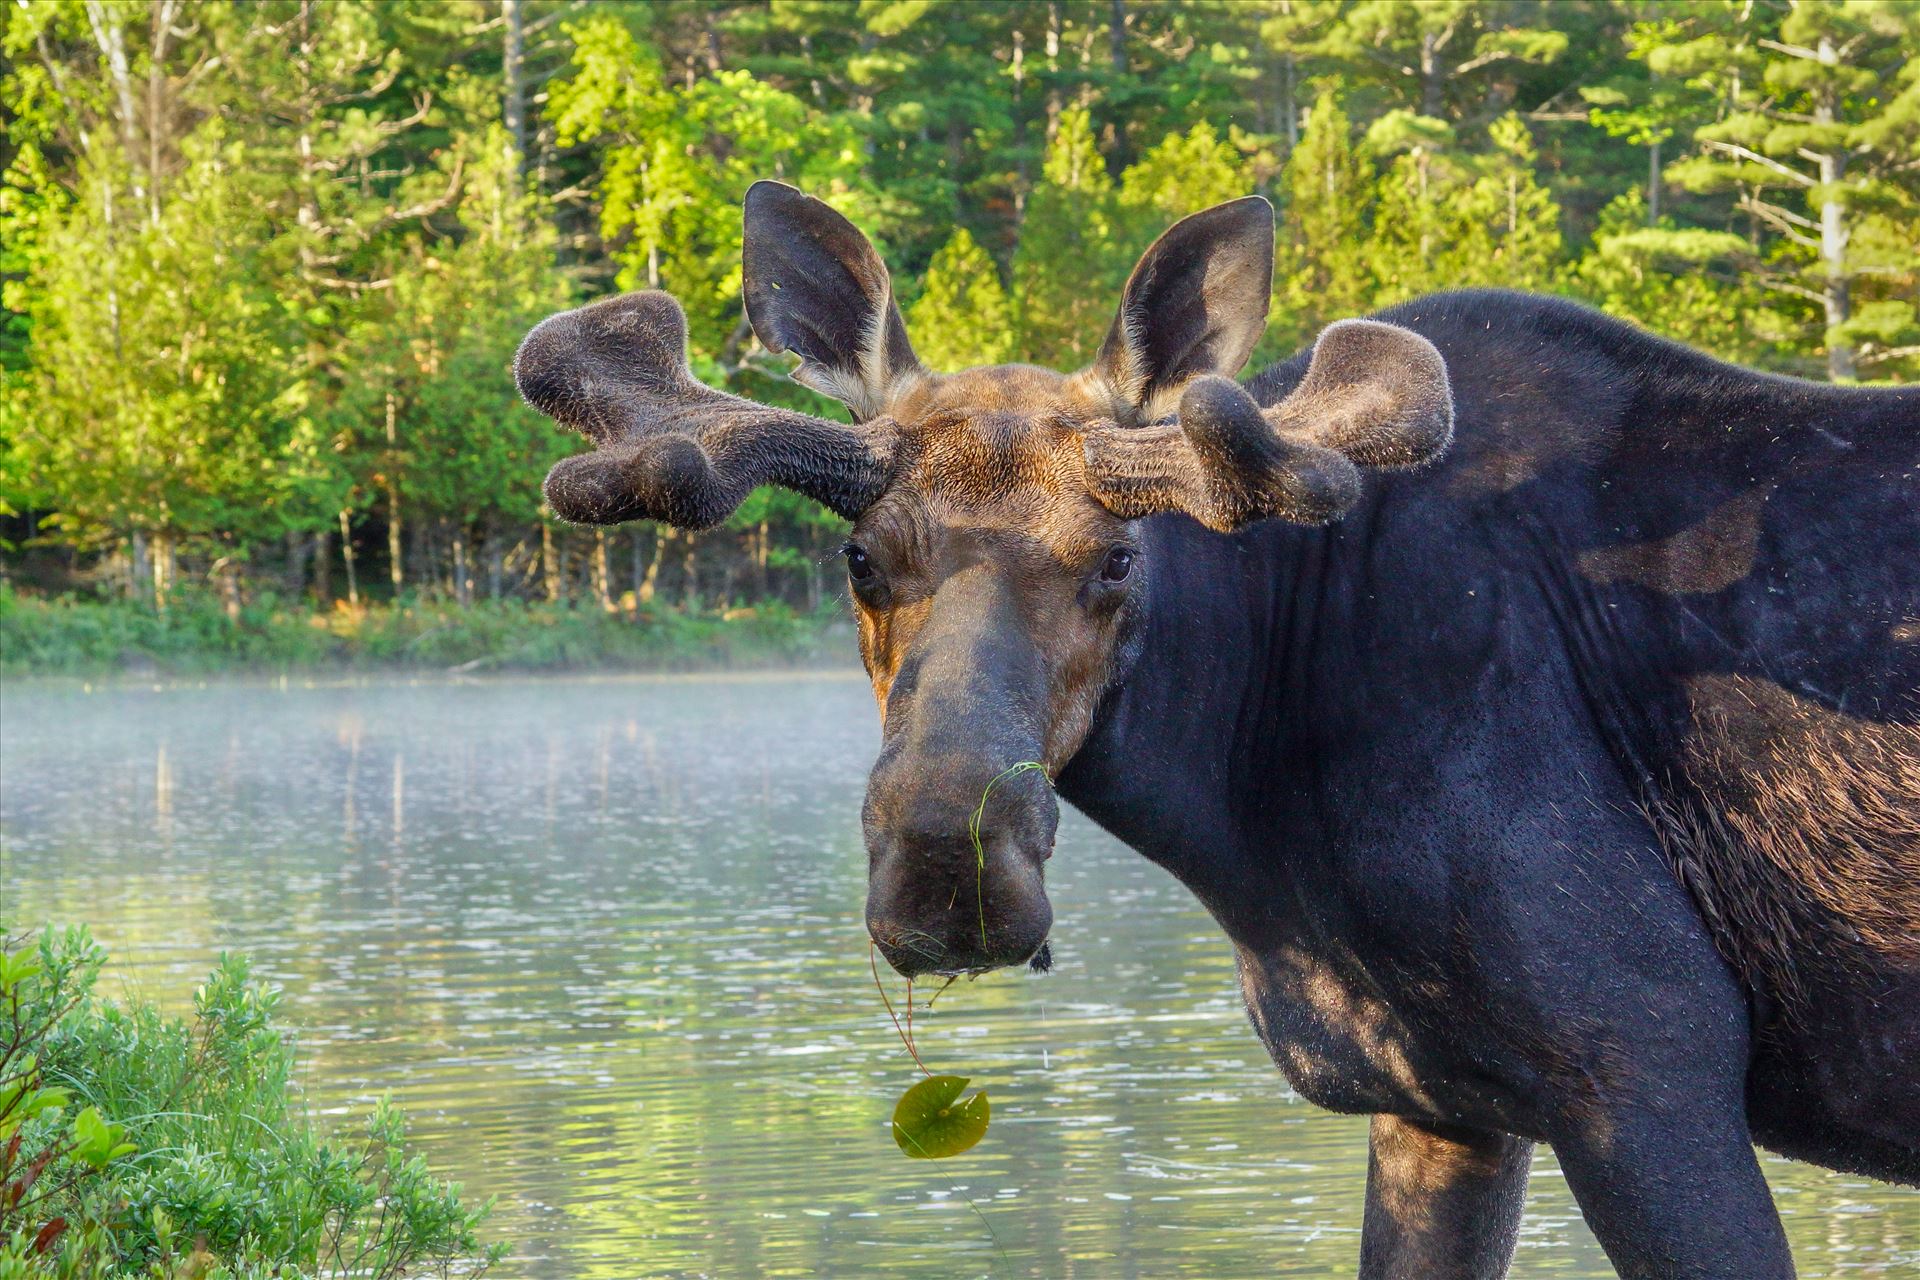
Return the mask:
[[313, 441], [276, 368], [290, 334], [234, 180], [246, 150], [205, 121], [157, 217], [129, 215], [127, 175], [100, 155], [19, 228], [35, 271], [8, 307], [31, 322], [33, 367], [6, 401], [8, 501], [56, 507], [81, 535], [275, 533]]

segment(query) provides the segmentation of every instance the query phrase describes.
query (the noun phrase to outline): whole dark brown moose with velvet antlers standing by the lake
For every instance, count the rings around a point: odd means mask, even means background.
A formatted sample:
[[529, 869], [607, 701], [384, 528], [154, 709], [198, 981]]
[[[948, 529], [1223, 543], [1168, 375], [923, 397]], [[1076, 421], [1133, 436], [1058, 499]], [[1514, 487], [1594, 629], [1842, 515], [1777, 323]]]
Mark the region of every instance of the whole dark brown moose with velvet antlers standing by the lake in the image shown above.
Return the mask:
[[1167, 230], [1071, 374], [925, 368], [791, 186], [743, 255], [851, 424], [697, 382], [660, 292], [515, 374], [595, 445], [564, 520], [774, 484], [852, 522], [895, 969], [1044, 956], [1064, 796], [1219, 921], [1294, 1090], [1371, 1115], [1369, 1278], [1505, 1274], [1536, 1142], [1624, 1276], [1793, 1274], [1755, 1142], [1920, 1182], [1920, 388], [1492, 290], [1240, 384], [1258, 196]]

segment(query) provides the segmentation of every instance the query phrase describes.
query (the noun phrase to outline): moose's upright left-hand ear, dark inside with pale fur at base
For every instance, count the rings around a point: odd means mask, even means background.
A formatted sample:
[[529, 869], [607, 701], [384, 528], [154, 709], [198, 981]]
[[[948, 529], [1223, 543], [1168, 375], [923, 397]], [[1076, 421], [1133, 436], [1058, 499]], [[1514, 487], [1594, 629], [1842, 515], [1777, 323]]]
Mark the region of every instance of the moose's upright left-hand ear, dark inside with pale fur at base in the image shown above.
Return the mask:
[[860, 230], [785, 182], [747, 190], [747, 320], [770, 351], [793, 351], [793, 380], [860, 420], [925, 370], [906, 340], [887, 265]]

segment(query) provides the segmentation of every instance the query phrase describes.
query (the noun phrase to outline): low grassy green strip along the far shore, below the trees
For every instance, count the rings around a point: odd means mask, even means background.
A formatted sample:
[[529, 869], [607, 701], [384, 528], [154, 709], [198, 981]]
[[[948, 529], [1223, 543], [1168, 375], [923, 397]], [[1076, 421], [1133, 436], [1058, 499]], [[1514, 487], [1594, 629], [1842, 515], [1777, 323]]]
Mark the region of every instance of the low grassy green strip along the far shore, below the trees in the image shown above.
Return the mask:
[[716, 612], [513, 599], [321, 610], [303, 599], [263, 595], [230, 606], [177, 593], [156, 608], [0, 585], [8, 679], [808, 670], [847, 666], [851, 652], [841, 610], [801, 612], [778, 601]]

